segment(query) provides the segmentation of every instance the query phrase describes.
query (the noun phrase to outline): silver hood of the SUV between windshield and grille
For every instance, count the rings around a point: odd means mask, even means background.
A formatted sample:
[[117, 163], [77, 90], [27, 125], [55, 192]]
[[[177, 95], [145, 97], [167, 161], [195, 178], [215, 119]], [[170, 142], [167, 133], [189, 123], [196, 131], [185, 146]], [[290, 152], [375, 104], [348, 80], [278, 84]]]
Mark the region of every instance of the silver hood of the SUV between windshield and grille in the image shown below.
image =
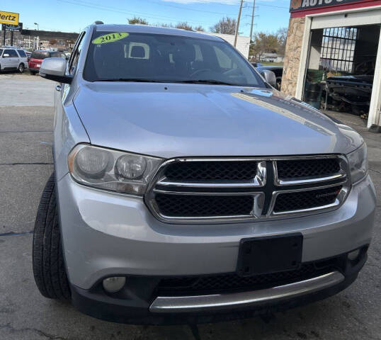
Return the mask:
[[86, 83], [74, 106], [91, 144], [157, 157], [347, 153], [346, 125], [276, 90]]

